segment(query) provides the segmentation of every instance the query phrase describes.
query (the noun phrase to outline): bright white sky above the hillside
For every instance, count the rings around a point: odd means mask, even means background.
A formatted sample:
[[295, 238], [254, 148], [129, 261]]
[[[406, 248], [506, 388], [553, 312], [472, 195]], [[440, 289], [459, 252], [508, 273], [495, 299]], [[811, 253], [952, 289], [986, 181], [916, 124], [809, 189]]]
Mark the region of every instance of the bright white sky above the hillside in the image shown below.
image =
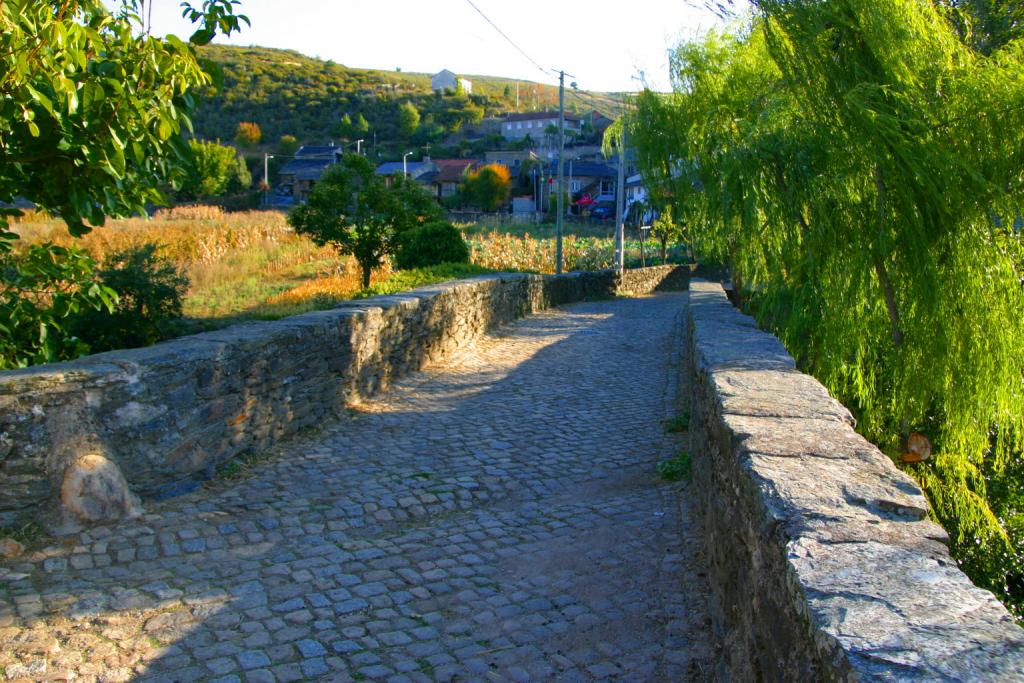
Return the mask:
[[[153, 33], [191, 35], [180, 0], [154, 0]], [[194, 0], [194, 4], [201, 4]], [[697, 4], [697, 3], [692, 3]], [[668, 51], [716, 25], [686, 0], [243, 0], [252, 27], [218, 43], [298, 50], [347, 67], [503, 76], [583, 90], [670, 87]], [[524, 56], [481, 16], [514, 41]], [[541, 68], [548, 70], [543, 72]]]

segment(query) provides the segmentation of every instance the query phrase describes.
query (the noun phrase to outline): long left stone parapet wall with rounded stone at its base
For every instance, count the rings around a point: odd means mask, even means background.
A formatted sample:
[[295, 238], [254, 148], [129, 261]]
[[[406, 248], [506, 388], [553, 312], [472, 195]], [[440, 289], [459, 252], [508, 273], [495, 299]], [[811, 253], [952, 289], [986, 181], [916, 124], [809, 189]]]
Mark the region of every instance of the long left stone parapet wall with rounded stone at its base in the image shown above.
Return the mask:
[[99, 522], [198, 485], [549, 306], [685, 288], [689, 268], [498, 274], [0, 373], [0, 526]]

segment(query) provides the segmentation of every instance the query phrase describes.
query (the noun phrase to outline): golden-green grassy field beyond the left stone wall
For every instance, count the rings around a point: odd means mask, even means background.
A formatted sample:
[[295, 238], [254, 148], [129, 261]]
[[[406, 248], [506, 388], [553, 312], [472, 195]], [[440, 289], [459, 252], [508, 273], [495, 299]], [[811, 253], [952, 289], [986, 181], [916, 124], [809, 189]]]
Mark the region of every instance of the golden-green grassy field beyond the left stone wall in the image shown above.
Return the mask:
[[[186, 332], [274, 319], [347, 299], [494, 270], [554, 272], [554, 224], [460, 228], [470, 245], [471, 266], [402, 272], [385, 266], [373, 273], [367, 291], [361, 290], [354, 259], [295, 234], [285, 214], [274, 211], [225, 213], [216, 207], [179, 207], [158, 211], [152, 218], [111, 220], [78, 240], [68, 234], [63, 222], [39, 215], [26, 216], [13, 229], [22, 244], [78, 244], [99, 261], [129, 247], [159, 245], [159, 253], [182, 268], [191, 283], [184, 303]], [[612, 230], [610, 221], [567, 224], [565, 269], [610, 267]], [[639, 243], [627, 244], [627, 260], [639, 263]]]

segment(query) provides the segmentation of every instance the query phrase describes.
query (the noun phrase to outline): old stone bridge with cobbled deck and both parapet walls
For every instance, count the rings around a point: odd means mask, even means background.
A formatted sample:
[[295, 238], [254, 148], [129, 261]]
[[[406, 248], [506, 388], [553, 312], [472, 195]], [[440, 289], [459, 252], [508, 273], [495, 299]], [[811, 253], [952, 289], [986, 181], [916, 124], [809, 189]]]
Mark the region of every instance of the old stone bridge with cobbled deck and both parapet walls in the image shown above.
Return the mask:
[[1024, 680], [920, 489], [688, 275], [481, 278], [0, 375], [0, 519], [56, 533], [0, 563], [3, 675]]

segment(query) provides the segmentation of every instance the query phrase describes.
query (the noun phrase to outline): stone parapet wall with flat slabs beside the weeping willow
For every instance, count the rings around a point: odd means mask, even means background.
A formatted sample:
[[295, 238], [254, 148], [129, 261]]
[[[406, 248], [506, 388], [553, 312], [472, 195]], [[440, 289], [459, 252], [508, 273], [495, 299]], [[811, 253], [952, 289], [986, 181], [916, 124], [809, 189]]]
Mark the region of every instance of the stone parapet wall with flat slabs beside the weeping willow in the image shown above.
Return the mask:
[[1024, 680], [1024, 631], [957, 569], [914, 481], [719, 285], [689, 300], [718, 677]]

